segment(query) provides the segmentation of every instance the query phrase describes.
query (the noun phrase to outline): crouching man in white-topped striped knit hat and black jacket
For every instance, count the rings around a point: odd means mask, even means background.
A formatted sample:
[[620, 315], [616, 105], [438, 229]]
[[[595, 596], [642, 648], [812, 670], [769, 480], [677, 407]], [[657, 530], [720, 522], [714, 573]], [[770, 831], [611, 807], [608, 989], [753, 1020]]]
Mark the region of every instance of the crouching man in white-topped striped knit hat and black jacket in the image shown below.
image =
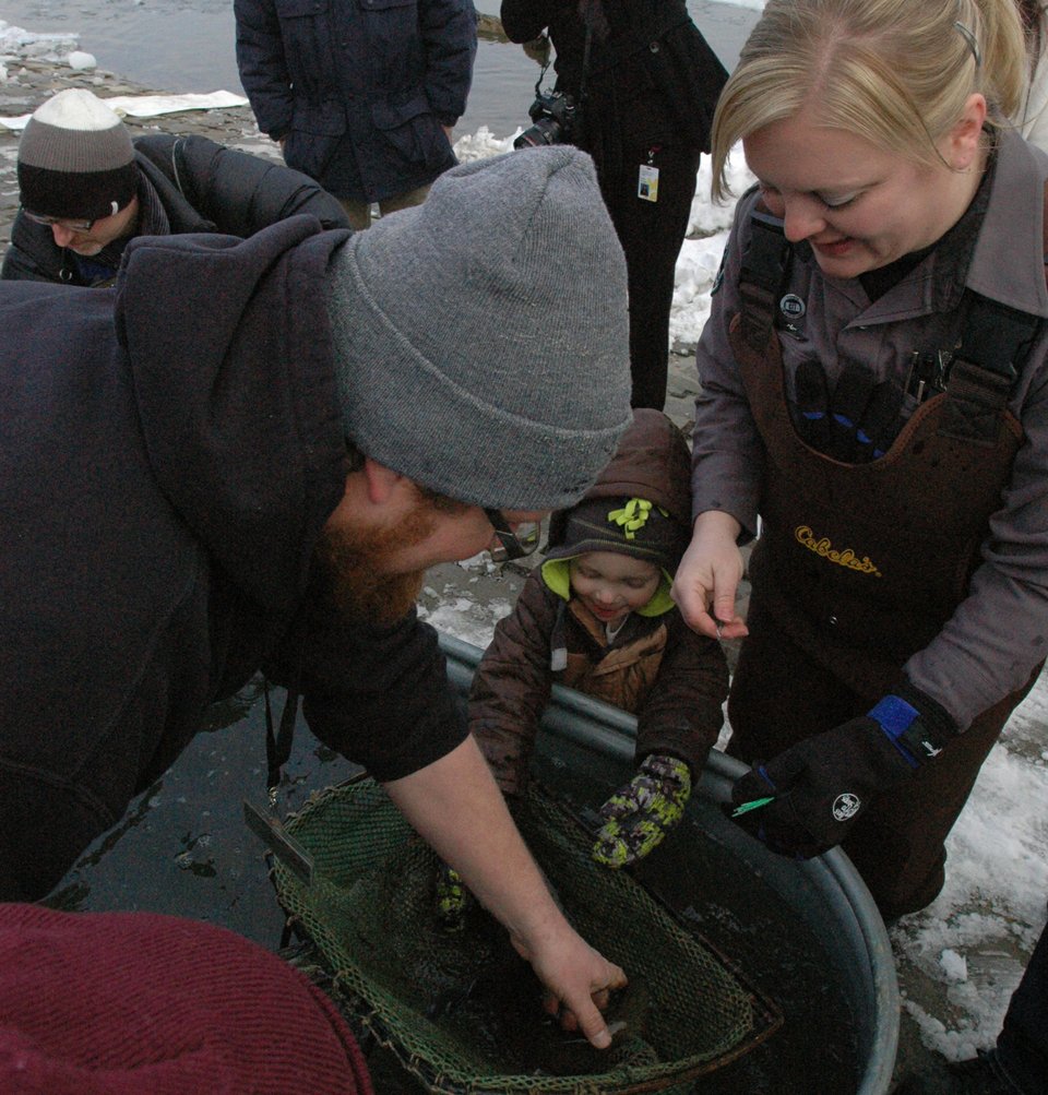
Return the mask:
[[131, 139], [82, 88], [36, 108], [19, 141], [22, 208], [0, 278], [108, 286], [135, 235], [251, 235], [296, 212], [345, 228], [342, 206], [311, 178], [206, 137]]

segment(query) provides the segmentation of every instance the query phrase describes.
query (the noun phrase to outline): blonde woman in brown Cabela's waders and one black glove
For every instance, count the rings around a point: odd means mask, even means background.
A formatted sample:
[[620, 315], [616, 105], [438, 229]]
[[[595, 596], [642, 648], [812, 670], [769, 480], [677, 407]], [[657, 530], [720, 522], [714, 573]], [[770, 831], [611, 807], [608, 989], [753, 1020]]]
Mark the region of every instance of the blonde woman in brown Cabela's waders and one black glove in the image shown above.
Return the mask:
[[[739, 201], [675, 597], [746, 635], [736, 820], [923, 908], [1048, 649], [1048, 157], [1013, 0], [770, 0], [717, 106]], [[739, 544], [758, 532], [752, 598]], [[1022, 808], [1022, 804], [1017, 804]]]

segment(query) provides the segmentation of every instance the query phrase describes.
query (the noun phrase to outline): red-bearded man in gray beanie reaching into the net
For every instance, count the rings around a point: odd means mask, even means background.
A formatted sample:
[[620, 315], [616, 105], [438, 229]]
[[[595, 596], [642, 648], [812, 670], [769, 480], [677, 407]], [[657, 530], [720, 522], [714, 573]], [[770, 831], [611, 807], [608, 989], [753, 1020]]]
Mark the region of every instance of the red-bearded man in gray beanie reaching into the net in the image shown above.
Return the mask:
[[358, 234], [140, 238], [115, 295], [0, 284], [0, 899], [50, 890], [263, 668], [607, 1046], [623, 973], [551, 899], [414, 601], [596, 479], [627, 347], [572, 148], [453, 169]]

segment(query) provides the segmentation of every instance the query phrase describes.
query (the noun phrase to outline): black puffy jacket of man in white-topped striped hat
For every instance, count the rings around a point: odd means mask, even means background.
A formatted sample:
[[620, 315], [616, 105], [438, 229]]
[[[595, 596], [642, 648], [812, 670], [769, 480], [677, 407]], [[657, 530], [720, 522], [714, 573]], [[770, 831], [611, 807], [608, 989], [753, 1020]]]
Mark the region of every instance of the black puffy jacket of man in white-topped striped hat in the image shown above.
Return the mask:
[[[296, 214], [310, 214], [324, 228], [347, 227], [345, 211], [335, 198], [312, 178], [283, 164], [224, 148], [207, 137], [156, 134], [136, 137], [134, 145], [142, 180], [139, 200], [143, 200], [142, 186], [148, 183], [172, 235], [222, 232], [246, 238]], [[166, 233], [150, 229], [150, 234]], [[83, 277], [76, 256], [55, 243], [51, 230], [21, 211], [11, 229], [11, 246], [0, 277], [93, 284]], [[107, 284], [111, 277], [103, 280]]]

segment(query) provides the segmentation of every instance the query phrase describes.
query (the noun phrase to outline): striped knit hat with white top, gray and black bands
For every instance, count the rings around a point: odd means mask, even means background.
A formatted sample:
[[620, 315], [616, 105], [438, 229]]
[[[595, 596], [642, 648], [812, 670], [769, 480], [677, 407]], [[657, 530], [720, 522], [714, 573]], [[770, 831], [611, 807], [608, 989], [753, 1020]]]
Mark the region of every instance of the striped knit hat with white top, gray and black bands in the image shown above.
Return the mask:
[[127, 127], [81, 88], [39, 106], [19, 141], [19, 189], [30, 212], [100, 220], [135, 196], [138, 169]]

